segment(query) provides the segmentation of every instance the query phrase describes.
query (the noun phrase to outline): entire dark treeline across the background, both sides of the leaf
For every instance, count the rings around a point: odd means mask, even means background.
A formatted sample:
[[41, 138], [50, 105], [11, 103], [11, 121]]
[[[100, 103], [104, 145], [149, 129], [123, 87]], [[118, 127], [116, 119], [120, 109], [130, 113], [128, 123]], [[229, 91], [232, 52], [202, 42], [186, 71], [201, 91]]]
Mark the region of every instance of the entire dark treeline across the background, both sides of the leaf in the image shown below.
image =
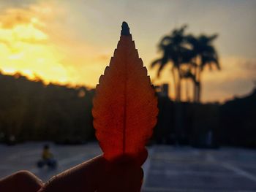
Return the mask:
[[[165, 89], [158, 92], [155, 142], [256, 147], [256, 89], [222, 105], [174, 102]], [[0, 142], [81, 143], [94, 139], [93, 96], [93, 90], [82, 86], [45, 85], [20, 74], [0, 73]]]

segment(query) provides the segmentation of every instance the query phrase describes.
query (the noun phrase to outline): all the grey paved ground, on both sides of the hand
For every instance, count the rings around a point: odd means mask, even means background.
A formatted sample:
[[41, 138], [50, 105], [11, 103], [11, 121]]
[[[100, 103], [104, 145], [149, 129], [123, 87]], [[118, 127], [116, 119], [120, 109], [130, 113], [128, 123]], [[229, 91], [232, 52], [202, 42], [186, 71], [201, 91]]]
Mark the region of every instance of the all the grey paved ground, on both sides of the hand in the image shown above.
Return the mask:
[[[0, 145], [0, 177], [28, 169], [46, 181], [54, 174], [101, 153], [96, 143], [51, 145], [59, 160], [56, 170], [37, 169], [43, 143]], [[256, 150], [222, 147], [201, 150], [155, 145], [143, 165], [143, 192], [252, 192], [256, 191]]]

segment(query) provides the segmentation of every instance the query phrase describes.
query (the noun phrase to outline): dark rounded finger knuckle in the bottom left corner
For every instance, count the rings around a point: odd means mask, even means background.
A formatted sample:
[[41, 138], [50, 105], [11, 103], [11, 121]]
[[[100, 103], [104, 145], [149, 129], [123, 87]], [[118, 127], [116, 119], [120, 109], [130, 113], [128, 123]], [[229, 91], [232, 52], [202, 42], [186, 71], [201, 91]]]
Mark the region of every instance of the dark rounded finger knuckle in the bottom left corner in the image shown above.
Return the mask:
[[28, 171], [20, 171], [0, 180], [1, 192], [36, 192], [42, 187], [42, 180]]

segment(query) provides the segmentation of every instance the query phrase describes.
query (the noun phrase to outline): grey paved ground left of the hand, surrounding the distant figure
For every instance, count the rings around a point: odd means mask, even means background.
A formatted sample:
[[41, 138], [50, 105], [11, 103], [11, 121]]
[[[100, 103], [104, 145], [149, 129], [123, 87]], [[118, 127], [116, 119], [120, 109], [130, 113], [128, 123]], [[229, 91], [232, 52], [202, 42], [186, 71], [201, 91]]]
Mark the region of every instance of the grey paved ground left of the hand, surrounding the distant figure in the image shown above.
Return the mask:
[[[88, 145], [53, 145], [51, 151], [59, 162], [58, 169], [38, 169], [36, 162], [40, 159], [42, 146], [45, 143], [26, 143], [22, 145], [0, 145], [0, 177], [20, 169], [27, 169], [43, 181], [55, 174], [89, 160], [101, 153], [97, 143]], [[49, 144], [49, 143], [47, 143]]]

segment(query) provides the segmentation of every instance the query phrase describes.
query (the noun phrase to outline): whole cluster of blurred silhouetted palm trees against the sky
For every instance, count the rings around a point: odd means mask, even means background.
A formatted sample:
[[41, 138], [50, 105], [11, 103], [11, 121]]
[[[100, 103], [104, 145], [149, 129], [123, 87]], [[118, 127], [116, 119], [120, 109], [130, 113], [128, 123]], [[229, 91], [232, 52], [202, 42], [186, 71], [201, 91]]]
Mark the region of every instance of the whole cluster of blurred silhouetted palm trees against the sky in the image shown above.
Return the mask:
[[[212, 42], [217, 34], [206, 36], [201, 34], [198, 37], [185, 35], [187, 26], [174, 29], [170, 35], [161, 39], [159, 50], [162, 57], [151, 63], [151, 67], [159, 65], [157, 76], [167, 64], [173, 64], [173, 82], [176, 91], [176, 101], [181, 99], [181, 80], [192, 80], [194, 83], [194, 101], [200, 102], [201, 93], [201, 72], [205, 66], [217, 66], [220, 69], [217, 50]], [[188, 93], [188, 91], [187, 91]], [[187, 95], [188, 99], [188, 95]]]

